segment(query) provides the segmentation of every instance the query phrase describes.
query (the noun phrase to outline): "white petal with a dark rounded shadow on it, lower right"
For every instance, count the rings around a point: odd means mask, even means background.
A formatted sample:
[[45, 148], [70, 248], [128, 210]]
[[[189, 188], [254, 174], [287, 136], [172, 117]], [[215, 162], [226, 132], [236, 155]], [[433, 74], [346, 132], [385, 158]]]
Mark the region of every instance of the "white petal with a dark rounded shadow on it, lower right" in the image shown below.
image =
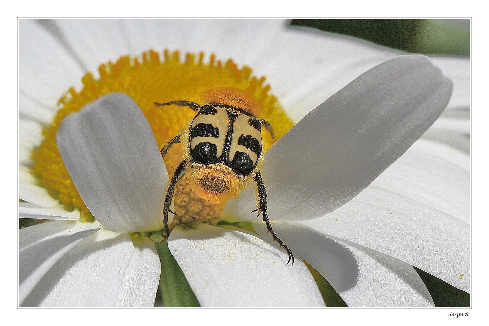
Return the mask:
[[[295, 257], [321, 273], [349, 306], [434, 305], [418, 273], [403, 261], [285, 222], [272, 227]], [[261, 239], [272, 241], [265, 224], [253, 223], [253, 228]]]

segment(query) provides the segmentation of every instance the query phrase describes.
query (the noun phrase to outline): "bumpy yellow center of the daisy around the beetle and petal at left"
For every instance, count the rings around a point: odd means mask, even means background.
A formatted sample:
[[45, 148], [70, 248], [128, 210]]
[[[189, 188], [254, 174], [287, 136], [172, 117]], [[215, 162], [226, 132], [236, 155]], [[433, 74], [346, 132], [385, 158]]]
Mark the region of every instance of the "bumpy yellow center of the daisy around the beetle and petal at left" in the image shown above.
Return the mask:
[[[264, 85], [265, 77], [251, 76], [251, 69], [244, 66], [238, 69], [232, 60], [224, 65], [215, 62], [211, 55], [210, 63], [202, 62], [204, 54], [198, 60], [194, 54], [187, 53], [185, 61], [179, 60], [179, 52], [172, 54], [164, 51], [164, 60], [160, 61], [157, 52], [150, 50], [139, 58], [121, 57], [115, 64], [100, 65], [100, 79], [94, 80], [91, 73], [83, 78], [83, 89], [76, 92], [68, 89], [58, 102], [58, 113], [49, 127], [44, 127], [45, 139], [32, 153], [34, 165], [32, 173], [54, 198], [58, 198], [69, 211], [77, 207], [82, 221], [93, 221], [87, 206], [78, 194], [69, 176], [56, 145], [56, 132], [61, 121], [70, 113], [78, 111], [84, 105], [99, 96], [119, 91], [128, 94], [137, 103], [148, 119], [155, 134], [156, 143], [161, 149], [170, 139], [180, 133], [187, 121], [192, 120], [195, 112], [186, 107], [156, 107], [155, 102], [166, 103], [174, 100], [186, 100], [200, 103], [200, 94], [212, 87], [236, 87], [244, 89], [254, 96], [264, 108], [263, 118], [275, 131], [275, 140], [293, 126], [277, 98], [268, 94], [269, 85]], [[263, 133], [263, 149], [267, 151], [274, 140], [268, 132]], [[183, 160], [179, 146], [173, 146], [165, 156], [165, 164], [170, 175]], [[176, 224], [194, 222], [217, 224], [224, 204], [211, 205], [196, 196], [182, 178], [175, 190], [175, 213], [172, 227]]]

